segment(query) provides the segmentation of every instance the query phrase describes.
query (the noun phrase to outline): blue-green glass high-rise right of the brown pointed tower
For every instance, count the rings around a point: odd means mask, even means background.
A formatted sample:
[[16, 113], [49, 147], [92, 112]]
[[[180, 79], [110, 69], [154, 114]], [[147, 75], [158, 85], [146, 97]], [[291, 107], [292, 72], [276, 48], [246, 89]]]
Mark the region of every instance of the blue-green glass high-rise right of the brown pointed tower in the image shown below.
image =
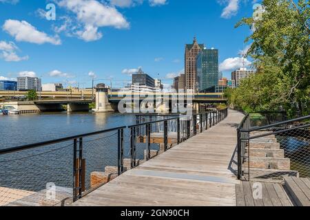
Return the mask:
[[218, 50], [204, 49], [197, 56], [198, 90], [215, 92], [218, 85]]

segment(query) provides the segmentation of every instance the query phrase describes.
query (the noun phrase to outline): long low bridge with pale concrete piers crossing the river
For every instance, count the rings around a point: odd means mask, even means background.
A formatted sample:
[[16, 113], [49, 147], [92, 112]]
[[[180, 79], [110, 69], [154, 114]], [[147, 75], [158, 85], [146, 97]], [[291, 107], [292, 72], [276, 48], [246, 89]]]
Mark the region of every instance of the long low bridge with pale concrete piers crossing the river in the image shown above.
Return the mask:
[[[0, 98], [17, 98], [25, 96], [26, 91], [0, 91]], [[149, 94], [146, 94], [147, 96]], [[167, 94], [167, 93], [156, 93], [152, 94], [154, 99], [149, 100], [154, 103], [158, 102], [158, 97], [163, 100], [163, 104], [160, 104], [155, 111], [169, 112], [171, 111], [173, 104], [178, 103], [178, 97], [184, 97], [183, 104], [187, 103], [187, 97], [190, 96], [191, 103], [194, 110], [199, 111], [200, 104], [211, 104], [211, 103], [227, 103], [227, 99], [223, 98], [223, 94]], [[156, 96], [155, 96], [156, 95]], [[68, 105], [68, 112], [73, 111], [89, 111], [89, 104], [92, 102], [92, 92], [72, 92], [72, 91], [42, 91], [38, 93], [40, 100], [33, 102], [22, 102], [22, 101], [10, 101], [2, 102], [1, 105], [12, 105], [19, 109], [21, 113], [34, 113], [41, 111], [61, 111], [62, 105]], [[143, 96], [138, 93], [129, 92], [110, 92], [106, 88], [97, 88], [94, 94], [96, 98], [96, 112], [109, 112], [118, 111], [119, 102], [123, 101], [128, 103], [138, 103], [138, 107], [141, 107], [141, 103], [147, 96]], [[14, 99], [13, 99], [14, 100]], [[174, 103], [176, 102], [176, 103]], [[145, 105], [142, 107], [145, 107]], [[148, 107], [148, 106], [147, 106]]]

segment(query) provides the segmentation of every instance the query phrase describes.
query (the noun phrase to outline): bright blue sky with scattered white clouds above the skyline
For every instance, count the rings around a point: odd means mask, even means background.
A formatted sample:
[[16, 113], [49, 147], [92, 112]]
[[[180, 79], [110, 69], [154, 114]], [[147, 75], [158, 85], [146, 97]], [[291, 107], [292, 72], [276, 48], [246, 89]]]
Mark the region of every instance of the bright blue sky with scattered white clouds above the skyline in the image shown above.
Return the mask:
[[[172, 83], [184, 69], [185, 43], [215, 47], [224, 76], [239, 67], [252, 0], [0, 0], [0, 79], [121, 87], [138, 67]], [[56, 20], [45, 17], [48, 3]], [[249, 61], [247, 61], [249, 63]], [[106, 79], [106, 80], [100, 80]]]

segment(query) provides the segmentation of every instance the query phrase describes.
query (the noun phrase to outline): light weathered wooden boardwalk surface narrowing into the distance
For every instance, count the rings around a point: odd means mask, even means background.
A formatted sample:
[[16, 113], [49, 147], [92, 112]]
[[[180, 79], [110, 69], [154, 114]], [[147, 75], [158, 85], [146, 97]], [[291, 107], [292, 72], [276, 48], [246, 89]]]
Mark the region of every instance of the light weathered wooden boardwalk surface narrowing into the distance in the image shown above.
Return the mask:
[[236, 206], [232, 158], [244, 115], [225, 120], [101, 186], [73, 206]]

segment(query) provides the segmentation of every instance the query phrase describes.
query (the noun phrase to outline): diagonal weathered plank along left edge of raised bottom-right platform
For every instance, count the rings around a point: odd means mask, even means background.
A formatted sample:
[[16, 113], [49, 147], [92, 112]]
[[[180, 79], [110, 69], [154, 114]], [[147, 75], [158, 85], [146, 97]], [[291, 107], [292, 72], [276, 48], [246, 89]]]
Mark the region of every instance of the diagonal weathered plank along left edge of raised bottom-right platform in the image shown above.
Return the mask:
[[285, 177], [285, 187], [289, 190], [291, 197], [297, 206], [310, 206], [310, 201], [304, 192], [299, 188], [292, 177]]

